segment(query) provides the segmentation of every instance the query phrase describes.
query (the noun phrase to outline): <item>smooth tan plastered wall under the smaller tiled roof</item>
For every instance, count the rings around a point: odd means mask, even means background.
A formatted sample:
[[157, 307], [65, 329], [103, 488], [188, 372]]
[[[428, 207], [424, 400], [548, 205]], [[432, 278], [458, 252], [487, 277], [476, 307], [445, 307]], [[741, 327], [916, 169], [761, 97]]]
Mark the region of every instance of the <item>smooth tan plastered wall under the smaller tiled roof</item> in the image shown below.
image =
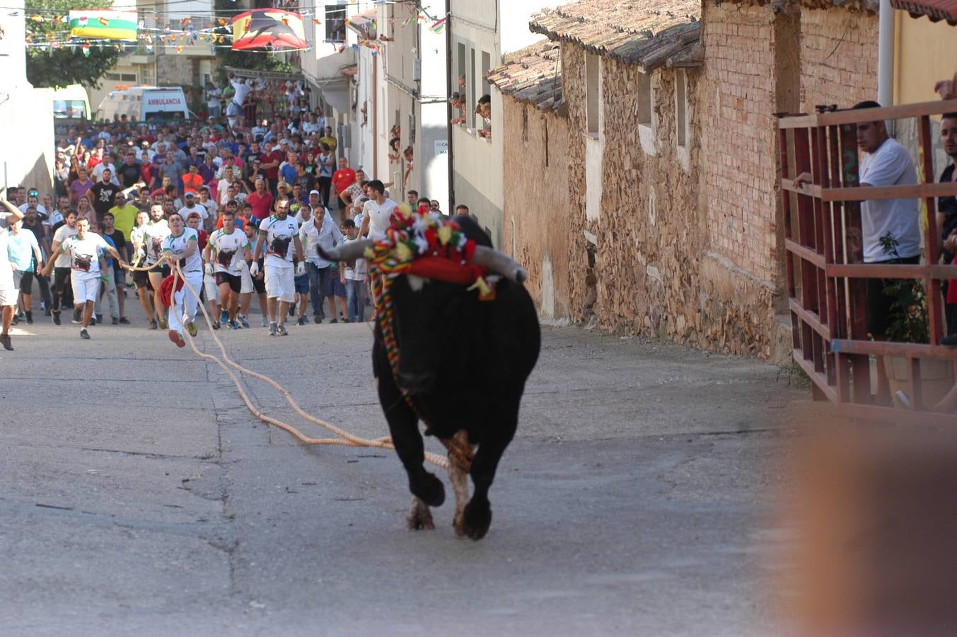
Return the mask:
[[568, 119], [508, 96], [502, 110], [501, 249], [528, 270], [525, 287], [539, 314], [568, 318]]

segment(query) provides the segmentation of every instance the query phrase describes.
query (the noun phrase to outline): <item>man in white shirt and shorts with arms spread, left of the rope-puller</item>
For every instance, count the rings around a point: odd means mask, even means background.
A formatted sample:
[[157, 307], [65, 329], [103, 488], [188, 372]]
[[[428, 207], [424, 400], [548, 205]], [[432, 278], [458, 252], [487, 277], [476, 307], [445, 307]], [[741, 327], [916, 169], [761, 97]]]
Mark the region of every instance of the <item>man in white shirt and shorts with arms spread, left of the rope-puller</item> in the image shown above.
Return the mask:
[[[93, 304], [96, 303], [97, 296], [100, 294], [100, 281], [113, 276], [112, 271], [107, 271], [103, 267], [105, 265], [102, 259], [103, 253], [109, 253], [120, 263], [120, 267], [126, 267], [127, 264], [116, 248], [100, 235], [90, 232], [90, 221], [86, 218], [77, 220], [77, 236], [63, 241], [59, 246], [59, 252], [70, 255], [73, 305], [75, 311], [78, 309], [82, 312], [79, 337], [89, 338], [90, 334], [86, 329], [90, 325], [90, 317], [93, 316]], [[50, 255], [47, 266], [43, 268], [44, 276], [50, 275], [56, 257], [56, 254]]]

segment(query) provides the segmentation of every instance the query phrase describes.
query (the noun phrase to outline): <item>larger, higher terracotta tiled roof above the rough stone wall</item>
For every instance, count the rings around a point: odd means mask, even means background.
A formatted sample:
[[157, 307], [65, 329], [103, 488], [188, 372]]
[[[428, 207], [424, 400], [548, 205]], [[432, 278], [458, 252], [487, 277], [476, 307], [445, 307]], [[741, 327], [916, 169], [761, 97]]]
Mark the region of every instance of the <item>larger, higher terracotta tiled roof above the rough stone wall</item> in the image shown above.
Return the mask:
[[528, 28], [650, 71], [701, 39], [701, 0], [579, 0], [532, 17]]

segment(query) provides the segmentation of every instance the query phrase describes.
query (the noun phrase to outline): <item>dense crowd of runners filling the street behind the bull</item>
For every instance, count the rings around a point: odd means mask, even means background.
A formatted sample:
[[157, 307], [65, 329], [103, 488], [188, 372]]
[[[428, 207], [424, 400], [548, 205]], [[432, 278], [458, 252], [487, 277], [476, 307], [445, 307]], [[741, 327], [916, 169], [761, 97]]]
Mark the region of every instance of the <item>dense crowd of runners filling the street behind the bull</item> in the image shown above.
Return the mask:
[[[241, 105], [252, 82], [231, 84]], [[319, 248], [384, 236], [399, 204], [391, 184], [337, 157], [301, 87], [286, 90], [267, 120], [231, 107], [204, 122], [57, 131], [54, 192], [11, 187], [0, 209], [0, 344], [12, 350], [21, 321], [74, 324], [84, 339], [90, 326], [130, 325], [134, 297], [142, 327], [179, 347], [200, 303], [214, 330], [241, 330], [255, 297], [270, 335], [306, 325], [310, 309], [316, 324], [370, 318], [366, 264], [328, 262]], [[441, 212], [414, 191], [406, 202]]]

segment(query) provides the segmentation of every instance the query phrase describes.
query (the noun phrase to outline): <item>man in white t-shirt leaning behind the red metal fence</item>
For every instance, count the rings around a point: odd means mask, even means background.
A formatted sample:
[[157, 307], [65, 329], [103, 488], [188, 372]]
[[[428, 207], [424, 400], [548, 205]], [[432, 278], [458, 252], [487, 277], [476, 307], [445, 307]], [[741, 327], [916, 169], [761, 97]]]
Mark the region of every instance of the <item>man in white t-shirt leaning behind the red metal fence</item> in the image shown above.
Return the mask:
[[[879, 108], [878, 102], [855, 104], [854, 108]], [[917, 171], [906, 148], [887, 133], [883, 120], [857, 124], [857, 148], [863, 151], [859, 179], [862, 187], [916, 186]], [[801, 187], [812, 180], [802, 172], [794, 180]], [[919, 263], [921, 225], [919, 202], [914, 197], [872, 199], [860, 204], [864, 262], [874, 264]], [[875, 340], [885, 340], [887, 320], [894, 296], [884, 291], [883, 279], [867, 280], [867, 330]]]

